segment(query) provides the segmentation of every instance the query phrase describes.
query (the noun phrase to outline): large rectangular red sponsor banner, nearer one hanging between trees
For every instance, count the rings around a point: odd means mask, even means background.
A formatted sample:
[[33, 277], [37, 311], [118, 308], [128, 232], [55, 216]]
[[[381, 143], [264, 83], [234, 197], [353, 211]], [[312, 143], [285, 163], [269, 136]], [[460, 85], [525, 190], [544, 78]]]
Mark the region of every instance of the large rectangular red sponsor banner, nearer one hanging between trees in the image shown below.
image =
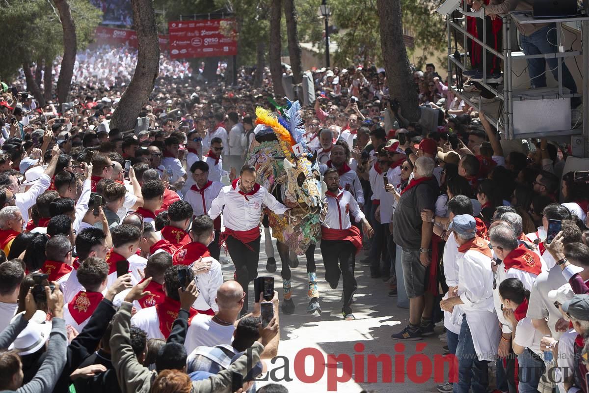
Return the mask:
[[235, 19], [173, 21], [168, 32], [173, 59], [237, 54]]

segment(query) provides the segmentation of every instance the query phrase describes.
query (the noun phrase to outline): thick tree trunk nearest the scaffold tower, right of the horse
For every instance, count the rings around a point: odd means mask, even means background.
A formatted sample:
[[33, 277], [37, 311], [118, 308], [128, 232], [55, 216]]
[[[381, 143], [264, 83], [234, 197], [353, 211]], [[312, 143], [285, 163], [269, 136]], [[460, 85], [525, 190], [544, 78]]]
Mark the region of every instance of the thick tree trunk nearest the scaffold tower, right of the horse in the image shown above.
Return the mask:
[[418, 121], [420, 111], [417, 88], [403, 42], [401, 0], [378, 0], [378, 14], [380, 47], [391, 99], [399, 101], [403, 117], [409, 121]]

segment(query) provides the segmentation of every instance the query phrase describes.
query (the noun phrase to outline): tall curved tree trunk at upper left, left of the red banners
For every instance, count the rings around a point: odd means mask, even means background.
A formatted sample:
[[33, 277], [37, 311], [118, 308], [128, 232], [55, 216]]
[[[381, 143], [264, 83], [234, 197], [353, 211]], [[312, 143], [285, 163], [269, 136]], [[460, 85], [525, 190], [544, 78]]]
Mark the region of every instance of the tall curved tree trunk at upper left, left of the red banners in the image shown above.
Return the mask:
[[67, 103], [70, 97], [70, 84], [74, 76], [75, 54], [78, 40], [75, 36], [75, 23], [72, 18], [70, 4], [67, 0], [54, 0], [61, 27], [64, 30], [64, 58], [61, 60], [61, 70], [57, 80], [57, 100], [59, 104]]

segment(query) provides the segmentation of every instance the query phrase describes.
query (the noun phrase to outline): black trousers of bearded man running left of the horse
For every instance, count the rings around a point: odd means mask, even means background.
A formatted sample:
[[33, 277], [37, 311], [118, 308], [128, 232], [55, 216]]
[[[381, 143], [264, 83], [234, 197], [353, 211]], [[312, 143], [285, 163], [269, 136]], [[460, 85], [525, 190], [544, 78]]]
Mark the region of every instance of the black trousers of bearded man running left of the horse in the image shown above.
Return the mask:
[[260, 258], [260, 237], [253, 242], [247, 243], [250, 250], [241, 240], [233, 236], [227, 236], [227, 250], [235, 266], [235, 280], [240, 283], [246, 297], [243, 299], [243, 309], [247, 310], [247, 293], [249, 292], [250, 281], [257, 277], [257, 265]]

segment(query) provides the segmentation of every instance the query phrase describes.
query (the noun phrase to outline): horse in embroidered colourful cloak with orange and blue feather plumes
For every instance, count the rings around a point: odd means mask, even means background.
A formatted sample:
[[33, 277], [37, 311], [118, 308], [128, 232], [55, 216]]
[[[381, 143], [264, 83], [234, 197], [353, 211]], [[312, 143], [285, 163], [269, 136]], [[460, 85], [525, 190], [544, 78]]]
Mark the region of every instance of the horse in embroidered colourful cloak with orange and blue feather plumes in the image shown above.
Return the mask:
[[[290, 104], [290, 103], [289, 103]], [[291, 292], [289, 250], [307, 256], [309, 280], [309, 308], [307, 312], [319, 315], [319, 290], [315, 269], [315, 244], [320, 238], [322, 197], [327, 187], [322, 182], [316, 153], [311, 154], [305, 143], [305, 128], [300, 117], [298, 101], [290, 104], [281, 116], [263, 108], [256, 109], [256, 123], [266, 126], [256, 135], [246, 163], [256, 168], [257, 181], [266, 187], [285, 206], [290, 207], [284, 216], [266, 210], [269, 226], [282, 261], [282, 311], [294, 312]], [[272, 245], [272, 239], [266, 239]], [[276, 261], [269, 258], [269, 272], [276, 271]]]

